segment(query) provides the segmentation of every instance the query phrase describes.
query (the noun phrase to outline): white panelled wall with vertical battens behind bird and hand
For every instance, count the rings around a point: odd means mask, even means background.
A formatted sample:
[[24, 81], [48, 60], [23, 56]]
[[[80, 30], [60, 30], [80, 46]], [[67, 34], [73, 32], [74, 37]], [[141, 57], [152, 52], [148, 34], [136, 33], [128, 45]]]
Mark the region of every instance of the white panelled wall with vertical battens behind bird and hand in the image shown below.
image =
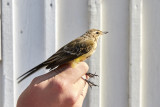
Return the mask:
[[99, 87], [84, 107], [159, 107], [159, 0], [2, 0], [0, 106], [16, 105], [16, 78], [89, 28], [108, 31], [88, 60]]

